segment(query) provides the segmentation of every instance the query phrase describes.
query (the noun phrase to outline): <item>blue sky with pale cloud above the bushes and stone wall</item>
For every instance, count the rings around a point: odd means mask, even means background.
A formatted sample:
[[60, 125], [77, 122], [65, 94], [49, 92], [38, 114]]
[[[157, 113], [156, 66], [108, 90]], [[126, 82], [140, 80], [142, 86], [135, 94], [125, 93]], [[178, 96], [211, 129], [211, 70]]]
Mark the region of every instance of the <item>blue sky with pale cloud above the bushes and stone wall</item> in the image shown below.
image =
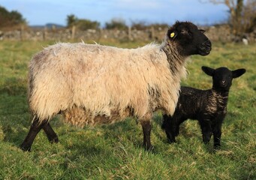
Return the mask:
[[125, 20], [127, 25], [144, 22], [171, 26], [176, 20], [212, 25], [223, 23], [228, 17], [225, 5], [213, 5], [207, 0], [1, 0], [0, 6], [18, 10], [29, 26], [66, 26], [70, 14], [98, 21], [101, 27], [112, 19]]

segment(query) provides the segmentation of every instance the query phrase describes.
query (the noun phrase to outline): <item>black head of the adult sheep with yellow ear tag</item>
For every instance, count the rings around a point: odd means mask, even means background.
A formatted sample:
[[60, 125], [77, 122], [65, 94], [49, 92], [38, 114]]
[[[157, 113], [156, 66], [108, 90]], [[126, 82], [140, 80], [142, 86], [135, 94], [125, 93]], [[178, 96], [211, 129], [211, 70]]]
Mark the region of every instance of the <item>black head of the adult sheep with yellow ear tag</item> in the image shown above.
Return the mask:
[[176, 22], [167, 31], [167, 41], [176, 44], [181, 55], [209, 55], [211, 41], [193, 23]]

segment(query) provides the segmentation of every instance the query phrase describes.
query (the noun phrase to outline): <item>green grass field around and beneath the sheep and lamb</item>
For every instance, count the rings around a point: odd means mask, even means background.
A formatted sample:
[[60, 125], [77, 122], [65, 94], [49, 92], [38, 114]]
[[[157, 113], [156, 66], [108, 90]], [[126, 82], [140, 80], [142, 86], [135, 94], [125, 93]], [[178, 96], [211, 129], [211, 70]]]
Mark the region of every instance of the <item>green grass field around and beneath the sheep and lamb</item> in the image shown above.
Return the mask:
[[[256, 44], [213, 43], [210, 55], [194, 55], [182, 84], [200, 89], [212, 86], [201, 70], [226, 66], [247, 72], [233, 80], [222, 148], [203, 145], [196, 121], [182, 124], [177, 143], [167, 144], [161, 113], [154, 116], [152, 144], [143, 150], [140, 124], [128, 118], [117, 124], [79, 129], [56, 117], [52, 126], [58, 144], [38, 134], [31, 152], [19, 145], [32, 117], [26, 101], [27, 66], [35, 52], [54, 42], [0, 42], [0, 179], [256, 179]], [[141, 43], [104, 43], [137, 47]]]

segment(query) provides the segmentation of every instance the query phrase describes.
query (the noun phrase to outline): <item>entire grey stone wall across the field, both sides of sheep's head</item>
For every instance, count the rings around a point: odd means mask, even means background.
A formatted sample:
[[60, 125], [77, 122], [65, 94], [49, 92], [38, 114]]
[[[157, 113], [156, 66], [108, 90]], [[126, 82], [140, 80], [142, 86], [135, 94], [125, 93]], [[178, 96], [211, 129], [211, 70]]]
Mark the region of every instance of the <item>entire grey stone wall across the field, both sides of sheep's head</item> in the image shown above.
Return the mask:
[[[201, 27], [203, 28], [203, 27]], [[212, 41], [230, 42], [233, 40], [242, 40], [247, 37], [249, 42], [256, 42], [256, 30], [251, 34], [241, 34], [241, 37], [233, 37], [230, 34], [229, 26], [210, 26], [204, 27], [206, 35]], [[107, 29], [89, 29], [86, 31], [74, 31], [74, 29], [27, 29], [16, 31], [1, 31], [0, 40], [95, 40], [116, 39], [116, 40], [162, 40], [167, 29], [149, 28], [146, 30], [136, 30], [128, 28], [127, 30], [107, 30]]]

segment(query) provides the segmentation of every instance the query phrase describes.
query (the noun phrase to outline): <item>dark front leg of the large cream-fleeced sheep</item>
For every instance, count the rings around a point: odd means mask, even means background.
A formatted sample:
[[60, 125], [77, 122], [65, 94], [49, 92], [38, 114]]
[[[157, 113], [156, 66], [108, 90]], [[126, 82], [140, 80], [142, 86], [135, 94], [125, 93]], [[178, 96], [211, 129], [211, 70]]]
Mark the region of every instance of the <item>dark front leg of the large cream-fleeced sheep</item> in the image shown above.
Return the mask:
[[150, 132], [151, 132], [150, 121], [141, 121], [140, 124], [143, 128], [143, 146], [147, 151], [152, 151], [153, 146], [150, 142]]

